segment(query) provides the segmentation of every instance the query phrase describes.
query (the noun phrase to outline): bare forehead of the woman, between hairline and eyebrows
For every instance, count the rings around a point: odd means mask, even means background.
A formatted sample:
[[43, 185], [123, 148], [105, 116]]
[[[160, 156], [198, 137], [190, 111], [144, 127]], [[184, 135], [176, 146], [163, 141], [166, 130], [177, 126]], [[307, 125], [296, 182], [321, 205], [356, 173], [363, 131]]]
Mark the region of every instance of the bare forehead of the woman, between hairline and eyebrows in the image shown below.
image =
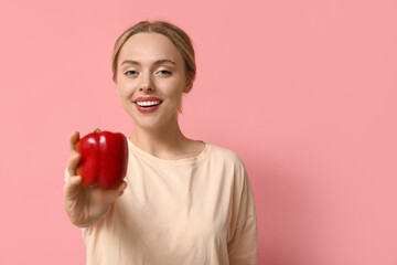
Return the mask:
[[128, 59], [142, 63], [154, 62], [159, 59], [170, 59], [176, 63], [183, 61], [182, 55], [168, 36], [152, 32], [130, 36], [122, 45], [119, 59], [119, 62]]

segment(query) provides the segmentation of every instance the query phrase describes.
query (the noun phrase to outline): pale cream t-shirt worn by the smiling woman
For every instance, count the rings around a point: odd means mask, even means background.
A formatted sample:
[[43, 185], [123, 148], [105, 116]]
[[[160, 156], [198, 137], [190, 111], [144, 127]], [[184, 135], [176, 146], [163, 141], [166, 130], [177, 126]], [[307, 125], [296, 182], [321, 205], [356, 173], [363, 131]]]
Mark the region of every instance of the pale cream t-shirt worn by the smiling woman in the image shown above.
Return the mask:
[[157, 158], [128, 141], [128, 187], [83, 229], [87, 264], [257, 264], [257, 220], [247, 171], [205, 142], [196, 157]]

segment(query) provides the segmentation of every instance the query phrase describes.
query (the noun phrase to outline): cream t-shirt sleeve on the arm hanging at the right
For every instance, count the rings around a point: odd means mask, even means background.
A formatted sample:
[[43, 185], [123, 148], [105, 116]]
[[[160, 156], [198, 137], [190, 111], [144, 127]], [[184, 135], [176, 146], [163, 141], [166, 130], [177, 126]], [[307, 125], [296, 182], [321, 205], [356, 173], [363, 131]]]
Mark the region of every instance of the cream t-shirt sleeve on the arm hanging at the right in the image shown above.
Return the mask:
[[229, 229], [227, 243], [230, 265], [251, 265], [257, 264], [257, 219], [254, 202], [254, 194], [248, 179], [248, 174], [242, 165], [238, 170], [240, 174], [240, 189], [235, 195], [234, 222]]

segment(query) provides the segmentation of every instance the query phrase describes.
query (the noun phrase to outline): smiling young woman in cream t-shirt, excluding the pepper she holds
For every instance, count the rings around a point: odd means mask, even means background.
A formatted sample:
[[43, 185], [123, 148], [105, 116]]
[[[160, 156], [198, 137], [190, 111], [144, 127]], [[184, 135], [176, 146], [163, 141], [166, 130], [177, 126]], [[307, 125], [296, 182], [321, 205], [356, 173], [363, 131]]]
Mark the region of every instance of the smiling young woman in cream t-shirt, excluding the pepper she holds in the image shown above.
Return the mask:
[[125, 181], [84, 188], [69, 138], [64, 205], [82, 227], [87, 264], [256, 264], [257, 221], [247, 171], [236, 153], [185, 137], [183, 93], [195, 78], [190, 38], [165, 22], [139, 22], [116, 41], [112, 74], [133, 120]]

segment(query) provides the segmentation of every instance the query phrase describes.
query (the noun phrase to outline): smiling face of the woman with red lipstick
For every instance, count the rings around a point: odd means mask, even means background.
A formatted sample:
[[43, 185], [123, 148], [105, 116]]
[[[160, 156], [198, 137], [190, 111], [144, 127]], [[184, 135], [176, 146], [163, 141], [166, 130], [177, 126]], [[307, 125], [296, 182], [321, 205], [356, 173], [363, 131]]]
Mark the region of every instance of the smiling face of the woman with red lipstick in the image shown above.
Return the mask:
[[173, 43], [159, 33], [135, 34], [117, 63], [117, 92], [135, 125], [154, 129], [173, 124], [182, 93], [189, 92], [184, 61]]

